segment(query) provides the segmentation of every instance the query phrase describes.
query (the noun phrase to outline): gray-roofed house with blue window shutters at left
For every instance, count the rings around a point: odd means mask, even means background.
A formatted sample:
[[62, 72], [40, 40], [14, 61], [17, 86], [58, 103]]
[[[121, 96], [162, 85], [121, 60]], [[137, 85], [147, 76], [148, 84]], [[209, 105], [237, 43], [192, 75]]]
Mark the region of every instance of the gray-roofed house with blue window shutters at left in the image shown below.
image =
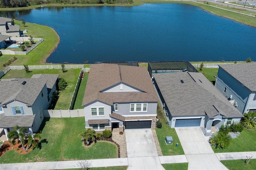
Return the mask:
[[[56, 91], [58, 74], [39, 74], [32, 78], [0, 80], [0, 128], [7, 134], [15, 125], [28, 127], [36, 133], [43, 119], [43, 110], [51, 102], [49, 94]], [[7, 138], [8, 139], [8, 138]]]

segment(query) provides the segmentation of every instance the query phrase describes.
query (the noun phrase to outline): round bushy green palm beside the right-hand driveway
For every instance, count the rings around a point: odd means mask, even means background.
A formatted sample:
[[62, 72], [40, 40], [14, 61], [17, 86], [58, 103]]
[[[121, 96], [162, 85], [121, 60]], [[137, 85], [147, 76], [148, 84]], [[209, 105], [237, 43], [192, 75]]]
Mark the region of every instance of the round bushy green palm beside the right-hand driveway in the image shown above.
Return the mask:
[[216, 148], [224, 149], [231, 143], [231, 136], [221, 131], [212, 136]]

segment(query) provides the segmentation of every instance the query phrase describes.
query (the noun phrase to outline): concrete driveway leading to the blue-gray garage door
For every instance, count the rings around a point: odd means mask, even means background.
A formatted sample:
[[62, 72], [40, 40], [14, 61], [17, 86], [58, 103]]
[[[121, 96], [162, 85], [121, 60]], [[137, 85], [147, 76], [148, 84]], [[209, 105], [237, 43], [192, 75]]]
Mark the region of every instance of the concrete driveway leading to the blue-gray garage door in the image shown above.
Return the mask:
[[218, 160], [200, 127], [175, 130], [188, 160], [188, 170], [228, 170]]

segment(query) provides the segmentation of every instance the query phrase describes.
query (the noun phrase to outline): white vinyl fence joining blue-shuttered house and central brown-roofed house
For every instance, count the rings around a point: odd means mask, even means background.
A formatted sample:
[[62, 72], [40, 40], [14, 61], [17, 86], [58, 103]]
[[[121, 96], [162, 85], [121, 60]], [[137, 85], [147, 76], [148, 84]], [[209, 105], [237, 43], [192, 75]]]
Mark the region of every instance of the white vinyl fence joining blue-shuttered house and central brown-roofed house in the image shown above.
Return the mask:
[[84, 109], [44, 110], [44, 117], [84, 117]]

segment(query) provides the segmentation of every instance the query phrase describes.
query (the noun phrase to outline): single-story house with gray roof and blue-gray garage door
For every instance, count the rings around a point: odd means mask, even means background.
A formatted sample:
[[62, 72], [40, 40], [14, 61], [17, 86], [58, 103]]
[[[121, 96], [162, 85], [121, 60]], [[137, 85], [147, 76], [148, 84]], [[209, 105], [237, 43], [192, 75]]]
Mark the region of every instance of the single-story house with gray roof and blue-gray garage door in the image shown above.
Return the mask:
[[[155, 73], [154, 85], [169, 126], [205, 127], [211, 132], [243, 117], [202, 73]], [[215, 130], [215, 129], [214, 129]]]

